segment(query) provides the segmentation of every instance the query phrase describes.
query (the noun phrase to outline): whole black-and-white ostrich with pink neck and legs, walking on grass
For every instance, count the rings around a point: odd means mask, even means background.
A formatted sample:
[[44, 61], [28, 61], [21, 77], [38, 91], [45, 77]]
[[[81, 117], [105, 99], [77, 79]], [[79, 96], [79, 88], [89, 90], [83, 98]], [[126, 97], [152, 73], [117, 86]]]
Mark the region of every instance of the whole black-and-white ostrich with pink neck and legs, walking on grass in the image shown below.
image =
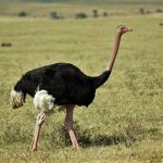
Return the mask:
[[106, 70], [99, 76], [87, 76], [78, 67], [70, 63], [54, 63], [32, 70], [24, 74], [11, 90], [11, 104], [17, 109], [25, 103], [26, 95], [34, 98], [34, 104], [39, 114], [36, 118], [32, 151], [37, 150], [41, 125], [46, 115], [57, 105], [65, 108], [64, 124], [68, 130], [74, 148], [78, 142], [73, 129], [73, 111], [75, 105], [88, 106], [95, 99], [96, 89], [109, 78], [118, 51], [123, 34], [131, 32], [120, 25]]

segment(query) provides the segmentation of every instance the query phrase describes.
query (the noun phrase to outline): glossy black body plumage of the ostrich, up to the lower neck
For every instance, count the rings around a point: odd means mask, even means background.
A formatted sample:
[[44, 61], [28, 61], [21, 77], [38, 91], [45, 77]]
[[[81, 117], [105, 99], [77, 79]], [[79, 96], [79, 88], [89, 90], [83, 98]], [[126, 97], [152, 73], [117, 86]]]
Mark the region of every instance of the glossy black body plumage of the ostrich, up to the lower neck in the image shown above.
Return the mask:
[[96, 89], [110, 74], [111, 71], [105, 71], [100, 76], [91, 77], [73, 64], [55, 63], [27, 72], [14, 86], [14, 90], [34, 97], [39, 87], [39, 90], [45, 89], [52, 95], [58, 105], [88, 106], [95, 98]]

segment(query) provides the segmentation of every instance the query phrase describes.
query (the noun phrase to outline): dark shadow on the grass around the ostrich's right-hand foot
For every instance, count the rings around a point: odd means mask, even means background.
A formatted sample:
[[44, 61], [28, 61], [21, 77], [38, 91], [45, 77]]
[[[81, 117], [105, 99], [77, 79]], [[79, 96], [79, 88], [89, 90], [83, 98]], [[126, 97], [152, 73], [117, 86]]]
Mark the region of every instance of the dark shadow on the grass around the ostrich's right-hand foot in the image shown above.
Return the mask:
[[[64, 141], [65, 146], [71, 146], [71, 139], [68, 131], [65, 127], [60, 127], [58, 130], [59, 135], [62, 137], [62, 142]], [[133, 135], [97, 135], [92, 130], [82, 130], [78, 125], [75, 127], [75, 133], [79, 146], [83, 148], [93, 147], [93, 146], [115, 146], [115, 145], [125, 145], [127, 147], [131, 146], [136, 138]]]

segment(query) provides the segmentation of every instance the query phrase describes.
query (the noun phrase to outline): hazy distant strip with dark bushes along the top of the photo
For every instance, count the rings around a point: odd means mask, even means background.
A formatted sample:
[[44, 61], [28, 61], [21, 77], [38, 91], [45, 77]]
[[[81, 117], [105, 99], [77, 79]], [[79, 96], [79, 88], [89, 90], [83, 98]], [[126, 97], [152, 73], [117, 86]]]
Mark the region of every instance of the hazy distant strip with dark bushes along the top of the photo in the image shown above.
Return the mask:
[[78, 13], [85, 13], [85, 18], [162, 14], [162, 0], [0, 0], [0, 16], [60, 20], [76, 18]]

